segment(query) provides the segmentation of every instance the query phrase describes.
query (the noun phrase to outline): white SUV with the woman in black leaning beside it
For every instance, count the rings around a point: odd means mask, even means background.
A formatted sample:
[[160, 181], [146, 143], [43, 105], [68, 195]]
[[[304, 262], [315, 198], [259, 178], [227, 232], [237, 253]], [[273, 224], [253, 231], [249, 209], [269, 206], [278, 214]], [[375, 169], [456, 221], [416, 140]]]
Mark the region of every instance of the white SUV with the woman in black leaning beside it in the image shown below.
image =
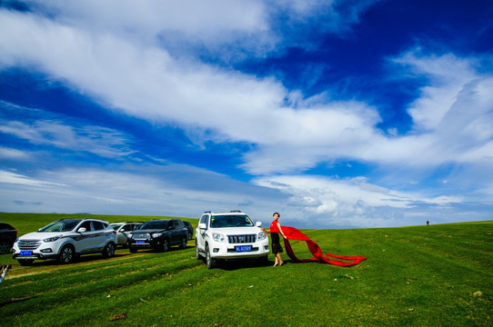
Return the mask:
[[221, 259], [260, 258], [267, 261], [267, 233], [246, 213], [205, 212], [196, 227], [196, 259], [206, 257], [207, 268]]

